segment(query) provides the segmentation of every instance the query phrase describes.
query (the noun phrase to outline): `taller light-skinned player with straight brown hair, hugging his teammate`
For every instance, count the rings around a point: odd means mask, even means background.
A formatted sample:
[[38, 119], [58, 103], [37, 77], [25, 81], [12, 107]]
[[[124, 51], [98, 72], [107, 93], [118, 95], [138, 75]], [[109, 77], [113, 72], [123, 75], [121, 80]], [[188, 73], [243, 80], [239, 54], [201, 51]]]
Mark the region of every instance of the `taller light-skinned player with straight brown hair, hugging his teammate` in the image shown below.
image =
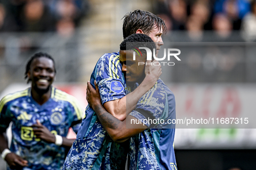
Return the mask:
[[[144, 33], [152, 37], [160, 49], [165, 23], [158, 16], [143, 10], [135, 10], [124, 16], [123, 37], [134, 33]], [[161, 67], [161, 66], [160, 66]], [[129, 95], [133, 101], [126, 101], [125, 77], [119, 53], [104, 54], [98, 60], [93, 73], [91, 84], [96, 80], [104, 107], [120, 120], [126, 118], [126, 111], [135, 108], [139, 98], [143, 96], [159, 78], [159, 66], [147, 66], [146, 78], [141, 85]], [[88, 105], [86, 117], [79, 129], [77, 139], [72, 145], [63, 166], [64, 170], [87, 169], [124, 169], [129, 149], [129, 141], [122, 144], [113, 142], [100, 124], [96, 113]]]

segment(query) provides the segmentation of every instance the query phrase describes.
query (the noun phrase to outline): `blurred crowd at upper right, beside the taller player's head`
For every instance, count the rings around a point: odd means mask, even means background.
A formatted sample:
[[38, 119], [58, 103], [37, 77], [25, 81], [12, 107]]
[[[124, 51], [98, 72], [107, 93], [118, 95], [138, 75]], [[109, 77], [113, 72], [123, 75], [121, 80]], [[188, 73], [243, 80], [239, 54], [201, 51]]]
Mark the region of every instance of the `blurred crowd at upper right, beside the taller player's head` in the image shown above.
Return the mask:
[[155, 6], [169, 31], [188, 31], [193, 41], [203, 41], [207, 31], [221, 41], [234, 32], [240, 41], [256, 41], [255, 0], [157, 0]]

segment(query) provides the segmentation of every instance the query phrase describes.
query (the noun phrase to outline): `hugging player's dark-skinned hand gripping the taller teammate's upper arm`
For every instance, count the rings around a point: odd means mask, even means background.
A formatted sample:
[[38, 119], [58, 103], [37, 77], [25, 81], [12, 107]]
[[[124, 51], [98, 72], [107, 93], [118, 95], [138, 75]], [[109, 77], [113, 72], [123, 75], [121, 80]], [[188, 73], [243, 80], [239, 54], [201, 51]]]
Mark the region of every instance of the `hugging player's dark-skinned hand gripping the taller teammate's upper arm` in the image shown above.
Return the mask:
[[96, 81], [94, 81], [94, 85], [96, 90], [92, 87], [91, 83], [87, 82], [87, 88], [86, 88], [86, 100], [88, 101], [88, 104], [94, 109], [95, 106], [98, 104], [101, 104], [100, 101], [100, 92], [99, 88], [96, 84]]

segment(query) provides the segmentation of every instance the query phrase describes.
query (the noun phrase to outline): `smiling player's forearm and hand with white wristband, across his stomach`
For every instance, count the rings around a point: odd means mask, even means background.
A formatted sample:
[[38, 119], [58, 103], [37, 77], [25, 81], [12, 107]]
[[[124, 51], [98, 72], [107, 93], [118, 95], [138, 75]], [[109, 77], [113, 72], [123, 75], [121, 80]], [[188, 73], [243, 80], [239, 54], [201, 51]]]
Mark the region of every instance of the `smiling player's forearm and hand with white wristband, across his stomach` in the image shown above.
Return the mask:
[[75, 139], [67, 139], [64, 136], [54, 135], [49, 129], [43, 126], [38, 120], [36, 124], [33, 124], [33, 131], [36, 138], [42, 139], [46, 142], [55, 143], [56, 145], [71, 147]]

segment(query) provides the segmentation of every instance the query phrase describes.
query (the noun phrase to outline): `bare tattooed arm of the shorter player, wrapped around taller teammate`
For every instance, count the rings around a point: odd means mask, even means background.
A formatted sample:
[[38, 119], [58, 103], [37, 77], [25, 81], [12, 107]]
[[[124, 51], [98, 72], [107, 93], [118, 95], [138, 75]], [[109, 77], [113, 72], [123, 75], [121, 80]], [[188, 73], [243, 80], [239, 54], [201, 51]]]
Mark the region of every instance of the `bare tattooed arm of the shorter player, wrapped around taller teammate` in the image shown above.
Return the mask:
[[[87, 83], [87, 95], [86, 99], [90, 106], [94, 109], [95, 113], [97, 114], [100, 123], [110, 135], [110, 137], [115, 142], [124, 142], [130, 137], [139, 134], [143, 130], [147, 128], [146, 125], [140, 124], [131, 124], [132, 122], [138, 122], [135, 117], [128, 115], [125, 120], [120, 121], [113, 115], [107, 112], [107, 110], [102, 106], [100, 102], [100, 93], [99, 89], [95, 83], [96, 90], [91, 86], [90, 83]], [[126, 122], [130, 124], [131, 128], [126, 128]]]

